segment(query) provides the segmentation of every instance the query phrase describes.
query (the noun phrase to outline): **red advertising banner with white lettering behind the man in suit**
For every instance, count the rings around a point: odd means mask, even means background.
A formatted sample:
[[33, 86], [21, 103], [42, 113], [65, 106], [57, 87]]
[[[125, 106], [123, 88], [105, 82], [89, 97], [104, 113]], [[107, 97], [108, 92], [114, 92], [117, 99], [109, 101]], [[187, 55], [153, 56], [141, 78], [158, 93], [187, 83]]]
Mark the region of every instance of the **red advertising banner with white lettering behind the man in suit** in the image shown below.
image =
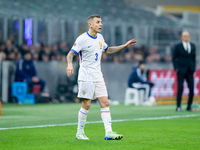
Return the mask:
[[[152, 88], [152, 96], [156, 99], [173, 98], [177, 94], [177, 77], [173, 70], [150, 70], [149, 79], [155, 85]], [[183, 96], [188, 96], [187, 82], [184, 82]], [[200, 96], [200, 70], [194, 73], [194, 96]]]

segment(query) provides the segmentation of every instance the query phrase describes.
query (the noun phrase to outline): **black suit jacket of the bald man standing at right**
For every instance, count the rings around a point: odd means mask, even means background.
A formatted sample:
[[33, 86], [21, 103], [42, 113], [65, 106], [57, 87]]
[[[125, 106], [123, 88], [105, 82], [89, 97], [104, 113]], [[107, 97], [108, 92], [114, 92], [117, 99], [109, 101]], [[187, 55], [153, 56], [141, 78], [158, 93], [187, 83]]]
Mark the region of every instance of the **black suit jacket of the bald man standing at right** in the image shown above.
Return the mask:
[[187, 70], [194, 72], [196, 68], [196, 48], [193, 43], [190, 43], [191, 51], [188, 53], [183, 46], [183, 43], [175, 45], [173, 50], [173, 66], [174, 70], [178, 69], [179, 73], [186, 73]]

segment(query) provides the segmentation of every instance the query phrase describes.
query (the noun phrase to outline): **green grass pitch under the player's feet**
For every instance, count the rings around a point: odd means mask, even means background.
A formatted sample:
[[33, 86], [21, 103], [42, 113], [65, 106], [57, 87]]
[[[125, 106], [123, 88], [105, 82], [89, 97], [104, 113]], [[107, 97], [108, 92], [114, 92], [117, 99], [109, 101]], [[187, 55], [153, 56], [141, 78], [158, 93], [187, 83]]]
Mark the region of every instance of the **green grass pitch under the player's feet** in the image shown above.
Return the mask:
[[[200, 112], [175, 112], [174, 105], [111, 105], [112, 127], [122, 140], [105, 141], [100, 106], [92, 104], [85, 134], [75, 139], [81, 104], [2, 104], [0, 150], [199, 150]], [[182, 108], [185, 110], [186, 106]], [[117, 120], [120, 120], [118, 122]], [[38, 127], [52, 125], [52, 127]], [[31, 127], [30, 127], [31, 126]], [[21, 127], [19, 129], [11, 129]], [[24, 128], [30, 127], [30, 128]], [[6, 130], [3, 130], [5, 129]]]

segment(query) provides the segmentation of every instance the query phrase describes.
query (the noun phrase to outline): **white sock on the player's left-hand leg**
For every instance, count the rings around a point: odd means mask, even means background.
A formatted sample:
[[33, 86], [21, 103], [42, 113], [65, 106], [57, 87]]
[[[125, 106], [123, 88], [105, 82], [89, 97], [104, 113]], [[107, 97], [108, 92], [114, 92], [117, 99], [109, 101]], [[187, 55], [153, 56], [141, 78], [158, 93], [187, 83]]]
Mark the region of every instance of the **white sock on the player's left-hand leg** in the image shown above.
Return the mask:
[[86, 123], [86, 118], [89, 110], [86, 110], [81, 107], [80, 111], [78, 112], [78, 128], [77, 128], [77, 134], [84, 133], [84, 127]]

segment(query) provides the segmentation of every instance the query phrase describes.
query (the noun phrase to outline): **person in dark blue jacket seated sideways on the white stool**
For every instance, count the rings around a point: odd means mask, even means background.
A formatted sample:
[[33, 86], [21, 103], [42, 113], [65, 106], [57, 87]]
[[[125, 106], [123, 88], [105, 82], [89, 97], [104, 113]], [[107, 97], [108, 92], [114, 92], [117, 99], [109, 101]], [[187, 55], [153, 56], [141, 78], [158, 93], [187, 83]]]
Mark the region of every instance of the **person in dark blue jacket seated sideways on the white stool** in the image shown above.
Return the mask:
[[153, 83], [148, 81], [147, 70], [145, 62], [142, 60], [137, 67], [133, 68], [133, 71], [128, 80], [128, 87], [135, 88], [137, 90], [144, 90], [143, 104], [148, 103], [151, 97], [151, 88]]

